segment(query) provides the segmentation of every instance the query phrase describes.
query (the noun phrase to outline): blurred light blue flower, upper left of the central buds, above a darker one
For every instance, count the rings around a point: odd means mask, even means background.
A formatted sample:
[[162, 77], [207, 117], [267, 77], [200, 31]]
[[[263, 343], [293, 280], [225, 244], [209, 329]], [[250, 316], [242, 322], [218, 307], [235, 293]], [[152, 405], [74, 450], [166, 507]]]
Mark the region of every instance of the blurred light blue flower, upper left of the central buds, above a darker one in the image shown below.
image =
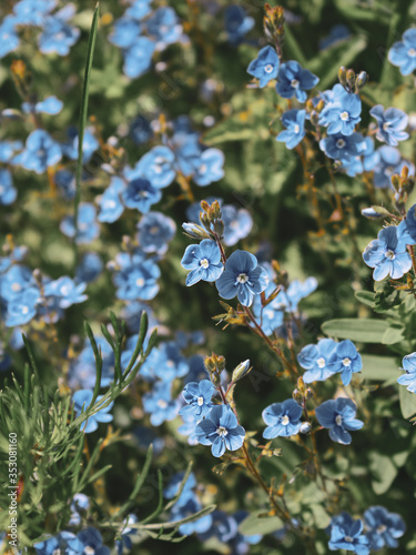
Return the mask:
[[[164, 189], [174, 180], [176, 172], [173, 169], [174, 154], [169, 147], [153, 147], [142, 157], [134, 172], [149, 179], [153, 186]], [[126, 173], [129, 176], [129, 173]]]

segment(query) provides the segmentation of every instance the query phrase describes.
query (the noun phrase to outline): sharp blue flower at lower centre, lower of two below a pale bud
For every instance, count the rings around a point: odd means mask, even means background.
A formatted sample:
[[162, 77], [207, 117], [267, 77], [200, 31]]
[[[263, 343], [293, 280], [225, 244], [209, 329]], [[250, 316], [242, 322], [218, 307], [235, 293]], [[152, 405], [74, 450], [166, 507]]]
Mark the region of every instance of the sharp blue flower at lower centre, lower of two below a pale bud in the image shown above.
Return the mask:
[[205, 420], [196, 426], [197, 441], [211, 445], [211, 453], [219, 457], [225, 450], [236, 451], [244, 443], [245, 430], [229, 405], [213, 406]]

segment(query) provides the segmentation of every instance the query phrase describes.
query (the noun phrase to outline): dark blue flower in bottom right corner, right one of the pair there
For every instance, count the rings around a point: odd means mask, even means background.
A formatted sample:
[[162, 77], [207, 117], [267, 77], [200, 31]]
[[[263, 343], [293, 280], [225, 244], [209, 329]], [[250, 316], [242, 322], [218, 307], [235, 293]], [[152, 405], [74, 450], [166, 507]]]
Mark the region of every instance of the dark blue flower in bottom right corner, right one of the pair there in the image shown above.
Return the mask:
[[406, 532], [406, 524], [397, 513], [389, 513], [379, 505], [367, 508], [364, 513], [365, 535], [373, 551], [383, 547], [398, 547], [397, 538]]

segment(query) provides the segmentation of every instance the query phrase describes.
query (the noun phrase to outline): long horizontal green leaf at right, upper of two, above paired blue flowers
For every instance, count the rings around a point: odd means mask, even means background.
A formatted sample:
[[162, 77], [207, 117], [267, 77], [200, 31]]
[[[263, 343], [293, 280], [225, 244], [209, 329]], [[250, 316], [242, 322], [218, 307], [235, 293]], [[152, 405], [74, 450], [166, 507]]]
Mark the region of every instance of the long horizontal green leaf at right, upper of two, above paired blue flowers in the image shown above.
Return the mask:
[[383, 320], [345, 317], [328, 320], [322, 331], [332, 337], [348, 339], [361, 343], [382, 343], [389, 324]]

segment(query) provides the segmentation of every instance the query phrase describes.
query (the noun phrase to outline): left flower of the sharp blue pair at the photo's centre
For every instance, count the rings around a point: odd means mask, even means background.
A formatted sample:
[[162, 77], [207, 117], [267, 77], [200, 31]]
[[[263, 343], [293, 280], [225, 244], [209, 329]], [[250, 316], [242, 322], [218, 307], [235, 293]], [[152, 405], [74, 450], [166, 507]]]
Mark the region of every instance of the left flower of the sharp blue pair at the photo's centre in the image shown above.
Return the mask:
[[204, 239], [200, 244], [190, 244], [181, 260], [182, 268], [190, 270], [186, 285], [202, 281], [216, 281], [223, 273], [221, 252], [215, 241]]

